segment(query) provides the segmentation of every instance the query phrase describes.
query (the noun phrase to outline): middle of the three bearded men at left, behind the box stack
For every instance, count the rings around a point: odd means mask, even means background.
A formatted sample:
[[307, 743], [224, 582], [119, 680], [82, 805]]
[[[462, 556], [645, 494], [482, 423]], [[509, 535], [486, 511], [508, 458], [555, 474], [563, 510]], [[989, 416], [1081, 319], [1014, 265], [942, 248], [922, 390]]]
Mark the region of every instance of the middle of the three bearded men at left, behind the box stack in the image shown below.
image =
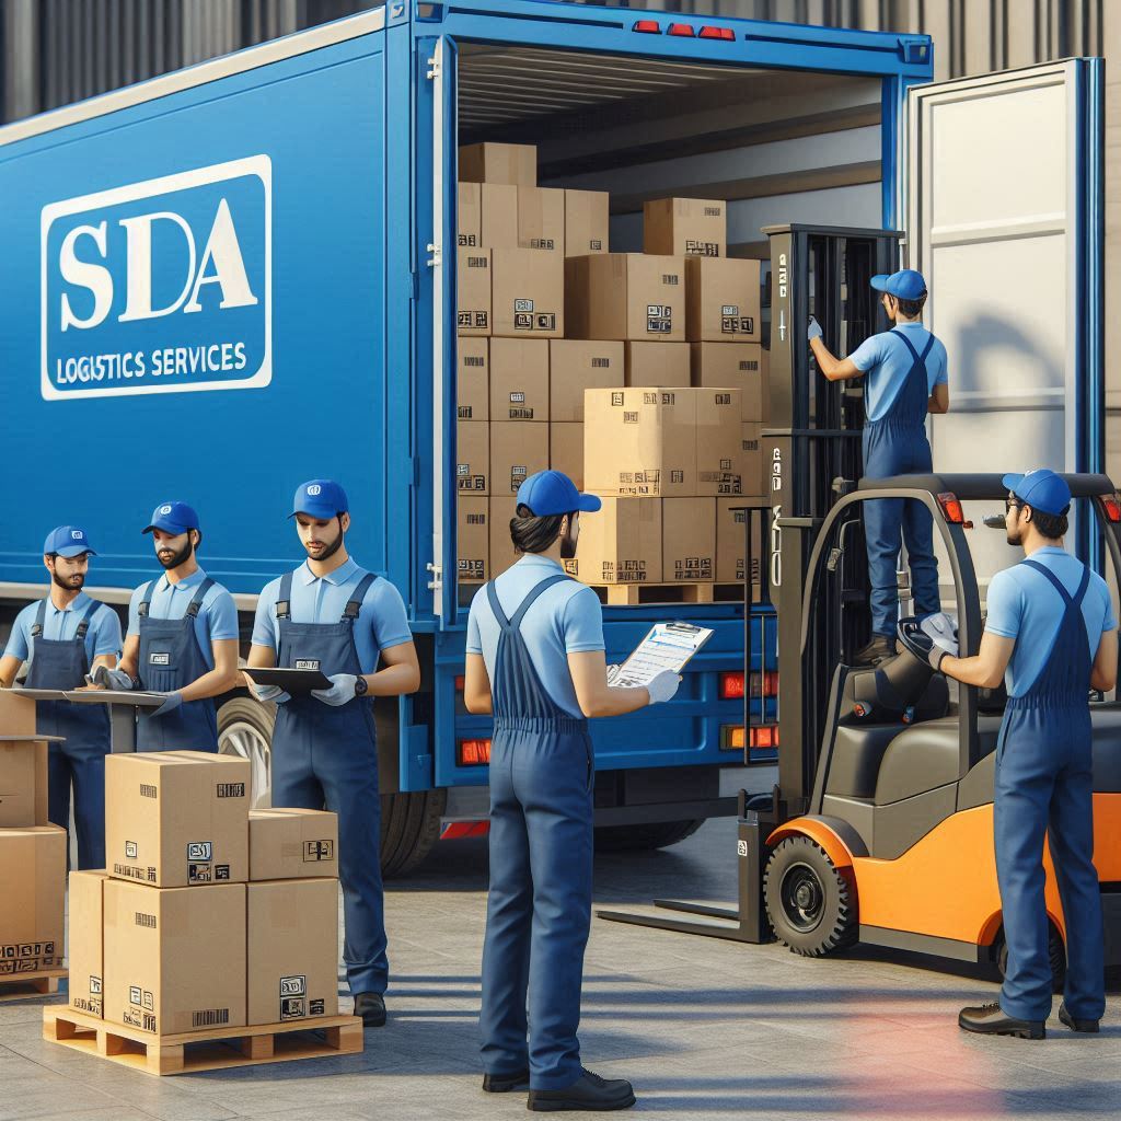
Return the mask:
[[241, 679], [238, 609], [198, 567], [203, 536], [186, 502], [161, 502], [143, 531], [164, 575], [132, 593], [120, 666], [99, 669], [94, 684], [167, 695], [159, 707], [139, 711], [138, 751], [217, 751], [214, 697]]

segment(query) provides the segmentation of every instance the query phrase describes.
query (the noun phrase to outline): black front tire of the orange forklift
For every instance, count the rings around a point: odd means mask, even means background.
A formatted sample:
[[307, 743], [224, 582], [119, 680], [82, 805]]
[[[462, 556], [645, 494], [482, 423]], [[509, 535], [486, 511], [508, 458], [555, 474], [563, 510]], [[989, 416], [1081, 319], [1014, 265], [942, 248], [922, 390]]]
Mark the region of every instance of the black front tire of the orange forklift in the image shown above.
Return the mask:
[[856, 893], [809, 837], [780, 841], [763, 872], [763, 900], [775, 937], [804, 957], [824, 957], [856, 942]]

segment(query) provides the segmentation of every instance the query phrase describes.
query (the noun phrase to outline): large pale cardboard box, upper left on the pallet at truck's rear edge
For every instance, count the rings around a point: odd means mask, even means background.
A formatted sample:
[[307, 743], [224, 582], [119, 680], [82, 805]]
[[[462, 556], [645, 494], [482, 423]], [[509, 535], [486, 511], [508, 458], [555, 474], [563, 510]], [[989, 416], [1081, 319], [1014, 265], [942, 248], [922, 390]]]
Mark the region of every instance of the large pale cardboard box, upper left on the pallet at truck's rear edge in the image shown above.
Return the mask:
[[696, 390], [589, 389], [584, 487], [630, 498], [691, 495], [697, 487]]

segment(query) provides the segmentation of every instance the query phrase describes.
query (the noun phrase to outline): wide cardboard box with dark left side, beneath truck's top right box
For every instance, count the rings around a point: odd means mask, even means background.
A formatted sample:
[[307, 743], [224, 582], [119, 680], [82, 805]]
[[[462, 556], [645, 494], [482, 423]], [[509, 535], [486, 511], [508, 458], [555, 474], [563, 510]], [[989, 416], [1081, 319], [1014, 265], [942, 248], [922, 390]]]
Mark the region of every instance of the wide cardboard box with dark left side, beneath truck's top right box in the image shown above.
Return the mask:
[[565, 261], [571, 339], [685, 339], [685, 260], [593, 253]]

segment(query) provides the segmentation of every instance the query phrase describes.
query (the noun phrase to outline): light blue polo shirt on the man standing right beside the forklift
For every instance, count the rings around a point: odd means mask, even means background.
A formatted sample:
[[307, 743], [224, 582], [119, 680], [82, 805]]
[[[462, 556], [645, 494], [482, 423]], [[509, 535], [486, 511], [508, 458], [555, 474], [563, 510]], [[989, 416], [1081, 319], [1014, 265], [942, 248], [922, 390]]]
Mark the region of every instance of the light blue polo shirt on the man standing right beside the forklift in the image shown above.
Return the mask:
[[[1045, 546], [1036, 549], [1031, 559], [1050, 568], [1071, 595], [1078, 591], [1083, 564], [1065, 549]], [[1012, 648], [1012, 659], [1004, 675], [1008, 695], [1023, 696], [1050, 657], [1066, 604], [1041, 572], [1018, 564], [993, 576], [989, 585], [988, 609], [986, 631], [1017, 640], [1021, 634], [1025, 637]], [[1093, 572], [1082, 599], [1082, 618], [1086, 623], [1090, 660], [1093, 661], [1102, 634], [1117, 630], [1118, 626], [1110, 590], [1105, 581]]]

